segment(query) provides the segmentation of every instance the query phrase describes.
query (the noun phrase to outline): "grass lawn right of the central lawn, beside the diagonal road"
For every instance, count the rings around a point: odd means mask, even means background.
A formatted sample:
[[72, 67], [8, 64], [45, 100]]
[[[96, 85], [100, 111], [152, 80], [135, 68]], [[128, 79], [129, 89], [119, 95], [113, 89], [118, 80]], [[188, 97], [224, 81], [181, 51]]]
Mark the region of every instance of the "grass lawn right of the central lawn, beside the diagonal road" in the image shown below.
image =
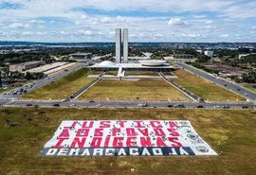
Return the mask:
[[174, 82], [183, 86], [185, 89], [191, 91], [196, 96], [200, 96], [205, 100], [210, 101], [236, 101], [246, 100], [243, 96], [238, 96], [230, 91], [221, 88], [208, 80], [193, 76], [191, 73], [184, 70], [177, 70], [174, 75], [178, 79], [174, 79]]

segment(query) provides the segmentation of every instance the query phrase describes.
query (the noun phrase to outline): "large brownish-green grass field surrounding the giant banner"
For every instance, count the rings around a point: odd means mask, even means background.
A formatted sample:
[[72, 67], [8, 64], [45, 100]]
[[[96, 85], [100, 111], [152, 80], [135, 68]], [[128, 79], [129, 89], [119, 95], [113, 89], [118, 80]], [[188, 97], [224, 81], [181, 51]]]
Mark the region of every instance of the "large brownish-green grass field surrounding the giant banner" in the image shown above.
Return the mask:
[[[0, 174], [249, 175], [256, 170], [255, 111], [2, 108], [0, 115]], [[188, 119], [211, 148], [222, 153], [205, 157], [39, 157], [66, 119]], [[16, 126], [7, 126], [7, 120]]]

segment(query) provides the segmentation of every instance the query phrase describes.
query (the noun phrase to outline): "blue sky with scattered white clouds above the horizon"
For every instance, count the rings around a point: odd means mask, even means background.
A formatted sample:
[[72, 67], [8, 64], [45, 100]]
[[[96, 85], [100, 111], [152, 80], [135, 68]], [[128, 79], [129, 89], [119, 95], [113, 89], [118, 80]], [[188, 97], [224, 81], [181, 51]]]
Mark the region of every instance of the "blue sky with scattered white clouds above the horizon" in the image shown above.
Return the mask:
[[256, 0], [0, 0], [0, 41], [256, 42]]

